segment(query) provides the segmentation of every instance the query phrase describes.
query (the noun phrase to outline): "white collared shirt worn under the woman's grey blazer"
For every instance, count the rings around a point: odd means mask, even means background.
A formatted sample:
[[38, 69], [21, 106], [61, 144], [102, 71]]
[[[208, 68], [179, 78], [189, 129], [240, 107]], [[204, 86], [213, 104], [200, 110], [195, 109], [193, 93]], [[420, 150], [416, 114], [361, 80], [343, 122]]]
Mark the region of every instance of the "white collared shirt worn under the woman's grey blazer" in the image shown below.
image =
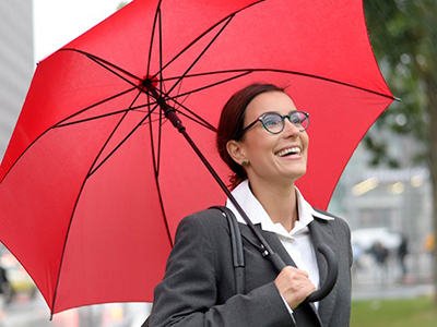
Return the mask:
[[[314, 216], [326, 220], [333, 220], [334, 218], [316, 211], [305, 201], [299, 190], [297, 187], [295, 189], [297, 194], [299, 217], [291, 232], [287, 232], [281, 223], [274, 223], [270, 219], [265, 209], [250, 191], [248, 180], [245, 180], [238, 184], [232, 194], [253, 225], [261, 223], [262, 230], [274, 232], [277, 235], [279, 240], [293, 258], [297, 268], [307, 271], [311, 282], [316, 286], [316, 288], [319, 288], [319, 268], [317, 266], [316, 253], [309, 235], [308, 225], [314, 220]], [[229, 199], [227, 199], [226, 206], [233, 210], [238, 222], [246, 223]], [[315, 304], [316, 307], [318, 307], [318, 303]]]

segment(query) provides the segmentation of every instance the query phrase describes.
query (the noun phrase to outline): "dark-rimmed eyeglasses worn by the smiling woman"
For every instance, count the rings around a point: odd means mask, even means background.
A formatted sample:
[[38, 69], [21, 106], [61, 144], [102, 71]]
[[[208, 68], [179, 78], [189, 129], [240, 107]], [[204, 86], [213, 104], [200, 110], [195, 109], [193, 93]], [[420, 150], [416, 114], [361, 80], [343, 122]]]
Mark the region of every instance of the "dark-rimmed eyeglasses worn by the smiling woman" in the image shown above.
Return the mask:
[[237, 138], [243, 136], [251, 126], [257, 122], [261, 122], [262, 126], [272, 134], [279, 134], [284, 130], [284, 119], [288, 119], [292, 124], [299, 129], [299, 132], [304, 132], [309, 126], [309, 113], [304, 111], [292, 111], [290, 114], [279, 114], [277, 112], [268, 112], [260, 116], [256, 121], [250, 123], [247, 128], [237, 135]]

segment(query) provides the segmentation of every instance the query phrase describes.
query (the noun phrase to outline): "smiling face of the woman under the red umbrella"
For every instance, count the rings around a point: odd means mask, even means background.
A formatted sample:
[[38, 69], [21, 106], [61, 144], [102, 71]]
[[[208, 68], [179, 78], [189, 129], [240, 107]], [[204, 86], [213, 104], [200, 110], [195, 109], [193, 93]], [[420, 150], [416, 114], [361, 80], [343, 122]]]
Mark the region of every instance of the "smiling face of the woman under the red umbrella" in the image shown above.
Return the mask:
[[[295, 111], [296, 106], [290, 96], [282, 92], [267, 92], [258, 95], [246, 108], [245, 126], [267, 112], [282, 116]], [[240, 155], [249, 162], [246, 171], [249, 181], [294, 183], [305, 174], [308, 156], [308, 134], [284, 119], [284, 130], [279, 134], [269, 133], [256, 123], [245, 137], [237, 142]]]

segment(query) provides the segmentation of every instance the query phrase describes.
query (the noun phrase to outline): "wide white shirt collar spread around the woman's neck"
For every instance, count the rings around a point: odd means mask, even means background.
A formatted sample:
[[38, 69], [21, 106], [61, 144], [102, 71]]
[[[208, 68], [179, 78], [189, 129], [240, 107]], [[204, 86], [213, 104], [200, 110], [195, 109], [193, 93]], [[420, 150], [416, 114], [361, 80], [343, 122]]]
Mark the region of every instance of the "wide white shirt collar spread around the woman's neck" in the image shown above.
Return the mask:
[[[245, 180], [238, 184], [237, 187], [234, 189], [232, 194], [235, 199], [245, 210], [246, 215], [250, 218], [253, 225], [261, 223], [261, 229], [264, 231], [271, 231], [279, 234], [283, 234], [290, 237], [292, 234], [298, 233], [304, 230], [312, 220], [314, 217], [324, 219], [324, 220], [333, 220], [334, 218], [326, 216], [321, 213], [316, 211], [311, 205], [306, 202], [300, 191], [295, 186], [297, 192], [297, 205], [299, 213], [299, 220], [296, 221], [294, 229], [288, 233], [285, 228], [281, 223], [273, 223], [270, 219], [269, 215], [260, 204], [260, 202], [255, 197], [253, 193], [250, 191], [249, 181]], [[243, 217], [239, 215], [235, 206], [232, 204], [229, 199], [226, 202], [226, 206], [233, 210], [235, 214], [237, 221], [246, 223]]]

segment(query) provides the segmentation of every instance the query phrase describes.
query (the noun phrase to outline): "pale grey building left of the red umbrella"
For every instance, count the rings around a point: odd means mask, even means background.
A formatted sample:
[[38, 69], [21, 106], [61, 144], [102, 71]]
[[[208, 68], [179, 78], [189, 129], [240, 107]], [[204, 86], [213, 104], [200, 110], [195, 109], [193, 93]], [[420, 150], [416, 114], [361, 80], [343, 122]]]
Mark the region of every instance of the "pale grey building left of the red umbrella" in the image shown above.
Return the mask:
[[1, 0], [0, 160], [11, 138], [34, 70], [33, 0]]

